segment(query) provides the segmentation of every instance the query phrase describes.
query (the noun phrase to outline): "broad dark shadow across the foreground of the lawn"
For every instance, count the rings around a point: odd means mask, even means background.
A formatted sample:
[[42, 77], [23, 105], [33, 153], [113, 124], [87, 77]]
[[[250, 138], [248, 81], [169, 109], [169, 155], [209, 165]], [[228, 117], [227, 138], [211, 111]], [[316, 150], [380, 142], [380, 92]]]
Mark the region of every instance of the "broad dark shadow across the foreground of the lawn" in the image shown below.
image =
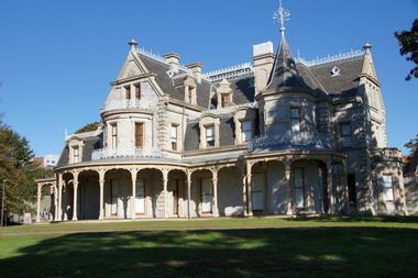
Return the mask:
[[78, 233], [0, 260], [0, 277], [413, 277], [413, 229]]

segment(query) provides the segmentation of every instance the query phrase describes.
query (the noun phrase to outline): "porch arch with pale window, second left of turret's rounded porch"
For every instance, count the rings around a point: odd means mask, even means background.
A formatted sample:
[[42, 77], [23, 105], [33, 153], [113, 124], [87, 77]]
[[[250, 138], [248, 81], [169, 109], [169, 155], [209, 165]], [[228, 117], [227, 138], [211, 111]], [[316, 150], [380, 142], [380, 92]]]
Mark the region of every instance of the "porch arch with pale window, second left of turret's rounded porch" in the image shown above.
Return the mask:
[[190, 216], [212, 216], [213, 184], [210, 170], [196, 170], [191, 174]]

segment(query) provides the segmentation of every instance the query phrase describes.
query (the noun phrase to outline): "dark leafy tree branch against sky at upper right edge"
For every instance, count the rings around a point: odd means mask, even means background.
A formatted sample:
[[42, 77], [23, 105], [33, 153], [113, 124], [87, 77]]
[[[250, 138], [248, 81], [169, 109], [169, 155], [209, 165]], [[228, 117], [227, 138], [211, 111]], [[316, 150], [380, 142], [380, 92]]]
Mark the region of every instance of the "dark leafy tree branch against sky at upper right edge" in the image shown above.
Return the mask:
[[416, 65], [405, 79], [410, 80], [413, 77], [418, 78], [418, 19], [414, 21], [410, 31], [404, 30], [396, 32], [395, 37], [399, 42], [400, 55], [407, 55], [406, 60], [411, 60]]

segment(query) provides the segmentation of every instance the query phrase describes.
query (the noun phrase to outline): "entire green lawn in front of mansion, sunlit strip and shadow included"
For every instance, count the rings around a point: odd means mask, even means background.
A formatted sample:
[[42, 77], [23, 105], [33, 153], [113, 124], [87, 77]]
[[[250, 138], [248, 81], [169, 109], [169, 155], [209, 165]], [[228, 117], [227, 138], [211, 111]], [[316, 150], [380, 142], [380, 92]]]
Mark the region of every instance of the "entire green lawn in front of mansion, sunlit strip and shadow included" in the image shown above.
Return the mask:
[[418, 218], [79, 222], [0, 229], [0, 277], [417, 275]]

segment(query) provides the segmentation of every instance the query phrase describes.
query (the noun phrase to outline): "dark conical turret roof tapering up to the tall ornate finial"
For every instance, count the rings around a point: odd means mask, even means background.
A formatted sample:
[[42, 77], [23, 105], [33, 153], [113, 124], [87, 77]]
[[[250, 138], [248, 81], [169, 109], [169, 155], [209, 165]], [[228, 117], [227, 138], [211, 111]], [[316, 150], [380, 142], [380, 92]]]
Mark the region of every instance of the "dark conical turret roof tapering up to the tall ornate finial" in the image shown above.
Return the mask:
[[280, 46], [274, 58], [273, 69], [265, 91], [277, 90], [279, 88], [310, 89], [299, 75], [284, 35], [282, 36]]

